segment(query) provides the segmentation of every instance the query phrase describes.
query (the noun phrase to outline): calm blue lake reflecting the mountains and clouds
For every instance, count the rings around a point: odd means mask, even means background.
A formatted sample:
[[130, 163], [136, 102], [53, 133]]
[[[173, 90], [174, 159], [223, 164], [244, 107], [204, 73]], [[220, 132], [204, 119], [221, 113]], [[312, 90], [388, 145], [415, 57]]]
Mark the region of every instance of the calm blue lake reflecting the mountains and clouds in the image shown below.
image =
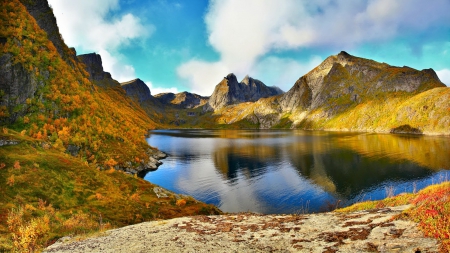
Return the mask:
[[305, 213], [450, 180], [450, 138], [301, 130], [158, 130], [145, 179], [225, 212]]

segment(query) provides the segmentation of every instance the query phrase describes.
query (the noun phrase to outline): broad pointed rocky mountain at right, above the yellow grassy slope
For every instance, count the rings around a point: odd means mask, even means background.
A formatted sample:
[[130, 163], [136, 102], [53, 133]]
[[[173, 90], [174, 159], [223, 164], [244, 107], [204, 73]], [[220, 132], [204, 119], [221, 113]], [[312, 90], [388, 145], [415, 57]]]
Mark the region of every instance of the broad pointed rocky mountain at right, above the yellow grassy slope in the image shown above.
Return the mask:
[[336, 100], [340, 100], [339, 109], [345, 109], [386, 93], [414, 94], [435, 87], [445, 85], [432, 69], [418, 71], [407, 66], [395, 67], [342, 51], [302, 76], [280, 98], [280, 105], [284, 111], [314, 110], [336, 105]]

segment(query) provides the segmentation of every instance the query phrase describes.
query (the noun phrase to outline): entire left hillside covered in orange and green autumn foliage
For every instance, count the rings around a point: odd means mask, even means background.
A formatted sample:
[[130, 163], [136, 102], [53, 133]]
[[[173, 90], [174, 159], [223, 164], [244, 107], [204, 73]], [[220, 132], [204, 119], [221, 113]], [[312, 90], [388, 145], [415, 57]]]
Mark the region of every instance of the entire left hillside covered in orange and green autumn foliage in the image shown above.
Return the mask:
[[98, 85], [55, 21], [47, 1], [0, 1], [0, 251], [220, 212], [170, 192], [160, 199], [137, 177], [162, 157], [145, 140], [158, 125], [120, 85]]

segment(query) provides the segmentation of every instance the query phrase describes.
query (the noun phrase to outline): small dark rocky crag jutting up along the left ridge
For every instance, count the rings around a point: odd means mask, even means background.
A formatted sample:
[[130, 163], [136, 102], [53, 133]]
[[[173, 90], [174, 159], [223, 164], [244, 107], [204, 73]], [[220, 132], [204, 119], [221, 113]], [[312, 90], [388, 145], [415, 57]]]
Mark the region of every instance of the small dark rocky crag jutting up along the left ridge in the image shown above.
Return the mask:
[[90, 53], [77, 56], [78, 60], [86, 65], [90, 80], [101, 87], [118, 87], [119, 82], [111, 77], [109, 72], [103, 71], [102, 58], [99, 54]]

